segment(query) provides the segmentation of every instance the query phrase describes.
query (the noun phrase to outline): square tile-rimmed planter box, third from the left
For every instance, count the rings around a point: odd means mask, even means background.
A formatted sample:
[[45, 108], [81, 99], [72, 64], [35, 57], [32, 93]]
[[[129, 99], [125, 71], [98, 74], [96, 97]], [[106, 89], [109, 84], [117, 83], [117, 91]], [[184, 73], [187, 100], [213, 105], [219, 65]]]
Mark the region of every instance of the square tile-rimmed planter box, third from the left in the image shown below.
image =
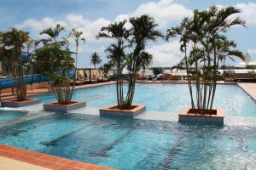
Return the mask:
[[111, 105], [106, 108], [100, 109], [101, 116], [122, 116], [131, 117], [137, 116], [138, 114], [146, 111], [145, 105], [132, 105], [131, 110], [120, 110], [117, 105]]

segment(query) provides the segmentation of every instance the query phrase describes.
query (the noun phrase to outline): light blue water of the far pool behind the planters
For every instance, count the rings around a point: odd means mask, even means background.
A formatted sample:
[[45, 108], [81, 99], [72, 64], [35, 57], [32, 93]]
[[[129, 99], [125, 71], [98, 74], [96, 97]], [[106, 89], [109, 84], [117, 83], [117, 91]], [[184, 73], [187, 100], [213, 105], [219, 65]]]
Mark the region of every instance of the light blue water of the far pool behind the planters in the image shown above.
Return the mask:
[[[54, 94], [35, 98], [42, 103], [56, 101]], [[86, 100], [87, 106], [101, 108], [116, 103], [115, 85], [76, 90], [74, 100]], [[218, 85], [214, 107], [224, 109], [228, 116], [256, 116], [256, 102], [236, 85]], [[190, 105], [186, 84], [137, 84], [134, 103], [147, 106], [147, 111], [177, 114]]]

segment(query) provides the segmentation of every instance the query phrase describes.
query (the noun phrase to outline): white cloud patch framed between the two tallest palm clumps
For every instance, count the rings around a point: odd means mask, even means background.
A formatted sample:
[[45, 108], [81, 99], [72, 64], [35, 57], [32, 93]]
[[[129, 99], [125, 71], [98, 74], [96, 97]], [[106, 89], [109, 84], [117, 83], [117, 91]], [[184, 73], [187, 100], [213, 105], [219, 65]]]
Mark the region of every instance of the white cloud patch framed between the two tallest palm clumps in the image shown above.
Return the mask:
[[179, 50], [180, 43], [175, 40], [172, 42], [164, 42], [148, 48], [148, 53], [153, 55], [154, 66], [173, 66], [183, 58], [183, 54]]

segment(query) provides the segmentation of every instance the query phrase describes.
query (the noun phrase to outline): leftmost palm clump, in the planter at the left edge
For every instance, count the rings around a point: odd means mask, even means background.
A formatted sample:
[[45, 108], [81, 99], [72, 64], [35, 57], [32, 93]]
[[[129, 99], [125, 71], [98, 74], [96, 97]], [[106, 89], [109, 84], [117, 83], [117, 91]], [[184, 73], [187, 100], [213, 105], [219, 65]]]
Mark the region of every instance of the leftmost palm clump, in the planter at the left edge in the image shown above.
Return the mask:
[[10, 76], [15, 82], [15, 99], [26, 100], [26, 66], [22, 61], [22, 49], [30, 39], [29, 33], [11, 28], [3, 33], [1, 56], [9, 63]]

